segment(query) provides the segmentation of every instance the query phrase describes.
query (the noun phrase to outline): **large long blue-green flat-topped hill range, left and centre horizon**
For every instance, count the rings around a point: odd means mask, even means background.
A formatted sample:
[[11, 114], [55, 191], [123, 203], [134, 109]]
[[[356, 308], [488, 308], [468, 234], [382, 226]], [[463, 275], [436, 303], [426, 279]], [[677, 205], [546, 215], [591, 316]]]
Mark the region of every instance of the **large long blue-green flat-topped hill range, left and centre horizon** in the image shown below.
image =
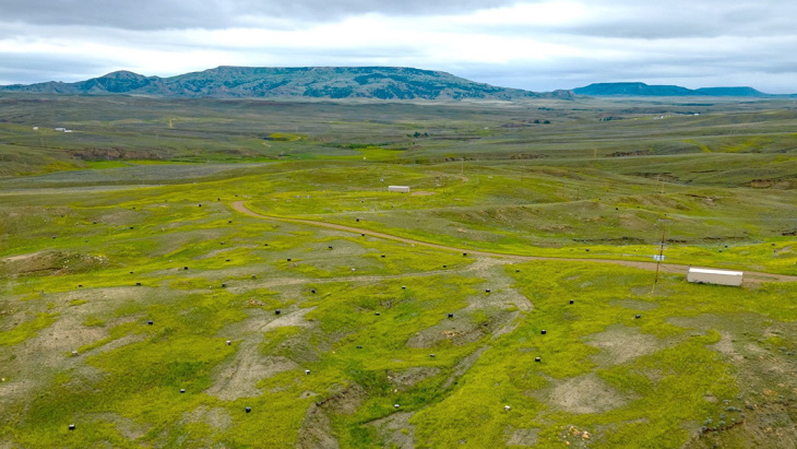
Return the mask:
[[170, 78], [129, 71], [76, 83], [0, 86], [0, 92], [129, 94], [165, 97], [311, 97], [382, 99], [571, 98], [571, 91], [536, 93], [476, 83], [450, 73], [398, 67], [218, 67]]

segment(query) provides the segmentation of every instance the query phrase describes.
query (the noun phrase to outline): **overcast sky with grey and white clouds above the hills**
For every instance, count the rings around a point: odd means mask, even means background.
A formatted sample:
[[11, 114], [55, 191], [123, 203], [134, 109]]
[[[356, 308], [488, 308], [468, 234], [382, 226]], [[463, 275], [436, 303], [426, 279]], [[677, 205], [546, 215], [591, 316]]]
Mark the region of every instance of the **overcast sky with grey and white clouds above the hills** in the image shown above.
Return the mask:
[[402, 66], [532, 91], [797, 93], [794, 0], [0, 0], [0, 84]]

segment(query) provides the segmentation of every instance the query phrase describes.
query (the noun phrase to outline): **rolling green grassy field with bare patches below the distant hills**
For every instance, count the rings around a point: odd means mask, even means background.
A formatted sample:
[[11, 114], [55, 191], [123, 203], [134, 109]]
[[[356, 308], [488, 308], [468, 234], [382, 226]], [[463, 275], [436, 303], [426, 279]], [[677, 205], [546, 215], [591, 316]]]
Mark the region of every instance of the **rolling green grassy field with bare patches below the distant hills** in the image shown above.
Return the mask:
[[667, 102], [0, 96], [0, 448], [797, 445], [797, 283], [590, 261], [797, 275], [793, 102]]

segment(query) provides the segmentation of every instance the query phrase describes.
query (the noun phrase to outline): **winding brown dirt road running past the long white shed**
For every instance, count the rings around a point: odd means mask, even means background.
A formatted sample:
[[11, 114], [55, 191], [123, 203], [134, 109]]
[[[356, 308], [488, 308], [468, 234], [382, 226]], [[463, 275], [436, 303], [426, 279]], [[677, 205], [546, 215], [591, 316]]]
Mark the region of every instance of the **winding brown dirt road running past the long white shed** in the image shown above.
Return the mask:
[[[356, 233], [356, 234], [365, 234], [371, 237], [379, 237], [384, 238], [388, 240], [394, 240], [394, 241], [402, 241], [409, 245], [418, 245], [418, 246], [425, 246], [428, 248], [436, 248], [436, 249], [442, 249], [445, 251], [455, 251], [455, 252], [467, 252], [468, 255], [473, 256], [486, 256], [486, 257], [499, 257], [504, 259], [511, 259], [511, 260], [518, 260], [518, 261], [530, 261], [530, 260], [563, 260], [563, 261], [573, 261], [573, 262], [592, 262], [592, 263], [612, 263], [616, 265], [623, 265], [623, 267], [632, 267], [638, 268], [642, 270], [656, 270], [656, 262], [640, 262], [634, 260], [616, 260], [616, 259], [578, 259], [578, 258], [558, 258], [558, 257], [538, 257], [538, 256], [518, 256], [518, 255], [508, 255], [503, 252], [491, 252], [491, 251], [479, 251], [479, 250], [473, 250], [469, 248], [457, 248], [453, 246], [447, 246], [447, 245], [438, 245], [438, 244], [431, 244], [428, 241], [423, 240], [415, 240], [412, 238], [406, 237], [398, 237], [391, 234], [385, 233], [379, 233], [376, 231], [369, 231], [369, 229], [361, 229], [358, 227], [353, 226], [346, 226], [346, 225], [338, 225], [334, 223], [325, 223], [325, 222], [318, 222], [314, 220], [302, 220], [302, 218], [285, 218], [282, 216], [271, 216], [271, 215], [263, 215], [258, 212], [253, 212], [249, 210], [243, 201], [235, 201], [233, 203], [233, 209], [236, 211], [253, 216], [255, 218], [262, 218], [262, 220], [272, 220], [275, 222], [285, 222], [285, 223], [296, 223], [296, 224], [304, 224], [304, 225], [310, 225], [310, 226], [318, 226], [318, 227], [326, 227], [330, 229], [337, 229], [337, 231], [345, 231], [349, 233]], [[686, 274], [687, 270], [689, 269], [689, 265], [680, 265], [675, 263], [662, 263], [658, 267], [658, 270], [664, 273], [681, 273]], [[797, 282], [797, 276], [790, 276], [786, 274], [775, 274], [775, 273], [760, 273], [754, 271], [745, 271], [745, 282]]]

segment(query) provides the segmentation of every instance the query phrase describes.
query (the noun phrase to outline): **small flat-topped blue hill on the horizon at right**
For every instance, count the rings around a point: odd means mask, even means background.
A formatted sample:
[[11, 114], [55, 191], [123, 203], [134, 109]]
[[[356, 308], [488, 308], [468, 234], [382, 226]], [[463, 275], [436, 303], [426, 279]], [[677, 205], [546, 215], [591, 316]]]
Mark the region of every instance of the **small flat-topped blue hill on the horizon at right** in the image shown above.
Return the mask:
[[702, 87], [691, 90], [678, 85], [647, 85], [645, 83], [594, 83], [573, 90], [576, 95], [591, 96], [739, 96], [772, 97], [752, 87]]

